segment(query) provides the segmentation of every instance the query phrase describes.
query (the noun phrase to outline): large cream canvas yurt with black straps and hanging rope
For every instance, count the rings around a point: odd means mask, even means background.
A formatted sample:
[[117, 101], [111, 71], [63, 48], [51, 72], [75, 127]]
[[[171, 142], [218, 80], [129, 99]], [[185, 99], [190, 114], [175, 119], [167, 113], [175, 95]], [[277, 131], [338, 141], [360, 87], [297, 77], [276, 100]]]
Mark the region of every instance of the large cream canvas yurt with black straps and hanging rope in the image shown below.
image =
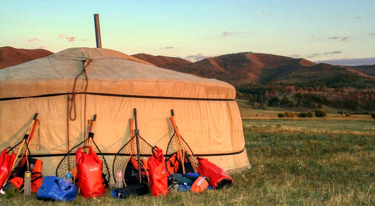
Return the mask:
[[162, 69], [110, 49], [70, 48], [0, 70], [0, 146], [19, 142], [38, 113], [39, 131], [29, 149], [43, 161], [43, 175], [55, 175], [96, 114], [95, 142], [111, 166], [130, 139], [133, 108], [142, 137], [164, 151], [173, 134], [173, 109], [196, 156], [224, 170], [239, 169], [249, 162], [235, 95], [233, 86], [216, 79]]

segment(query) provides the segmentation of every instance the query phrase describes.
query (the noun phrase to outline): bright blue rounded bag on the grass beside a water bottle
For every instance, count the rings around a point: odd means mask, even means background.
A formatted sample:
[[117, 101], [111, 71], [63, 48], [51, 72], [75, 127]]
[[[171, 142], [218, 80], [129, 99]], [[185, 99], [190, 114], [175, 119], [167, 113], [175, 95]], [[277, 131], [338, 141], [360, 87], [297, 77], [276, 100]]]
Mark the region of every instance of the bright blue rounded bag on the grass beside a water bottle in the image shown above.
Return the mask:
[[77, 187], [72, 182], [60, 177], [45, 176], [36, 199], [70, 202], [75, 196], [77, 196]]

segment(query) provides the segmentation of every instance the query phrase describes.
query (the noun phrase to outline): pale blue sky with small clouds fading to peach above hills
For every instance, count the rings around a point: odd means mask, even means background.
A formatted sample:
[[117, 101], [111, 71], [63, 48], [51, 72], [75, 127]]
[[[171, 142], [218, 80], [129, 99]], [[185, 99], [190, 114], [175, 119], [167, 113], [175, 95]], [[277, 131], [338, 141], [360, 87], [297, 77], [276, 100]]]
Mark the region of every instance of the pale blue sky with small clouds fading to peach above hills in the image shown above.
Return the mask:
[[[102, 47], [196, 61], [261, 52], [375, 64], [375, 1], [6, 1], [0, 46], [52, 52]], [[323, 61], [324, 62], [324, 61]], [[370, 63], [371, 64], [371, 63]]]

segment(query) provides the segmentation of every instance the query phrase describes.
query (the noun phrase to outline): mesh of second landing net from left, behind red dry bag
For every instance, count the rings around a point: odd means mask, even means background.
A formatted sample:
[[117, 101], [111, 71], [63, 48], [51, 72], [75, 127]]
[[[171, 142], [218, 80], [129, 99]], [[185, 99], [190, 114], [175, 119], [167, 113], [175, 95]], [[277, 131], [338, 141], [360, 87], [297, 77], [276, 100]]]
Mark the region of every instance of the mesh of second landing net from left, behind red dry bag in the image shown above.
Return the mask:
[[78, 177], [77, 177], [77, 165], [75, 162], [75, 152], [78, 148], [83, 148], [83, 151], [88, 153], [89, 147], [92, 146], [96, 154], [98, 155], [99, 159], [103, 161], [102, 163], [102, 176], [103, 180], [105, 182], [105, 185], [108, 187], [108, 184], [111, 180], [110, 170], [108, 168], [107, 162], [105, 161], [105, 158], [98, 148], [98, 146], [95, 144], [94, 140], [92, 138], [87, 138], [83, 142], [76, 145], [74, 148], [72, 148], [66, 155], [63, 157], [63, 159], [60, 161], [56, 168], [56, 176], [64, 178], [67, 172], [70, 172], [72, 174], [72, 178], [74, 180], [74, 184], [79, 187], [78, 185]]

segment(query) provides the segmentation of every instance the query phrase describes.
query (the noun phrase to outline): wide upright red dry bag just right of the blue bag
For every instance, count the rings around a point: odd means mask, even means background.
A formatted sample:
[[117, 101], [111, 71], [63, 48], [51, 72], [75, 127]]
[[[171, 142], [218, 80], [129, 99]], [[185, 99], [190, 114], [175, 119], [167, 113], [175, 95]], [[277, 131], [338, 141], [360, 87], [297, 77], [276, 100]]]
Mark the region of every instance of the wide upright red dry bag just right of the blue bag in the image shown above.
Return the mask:
[[75, 152], [81, 195], [86, 198], [102, 196], [107, 191], [102, 178], [102, 160], [92, 146], [89, 147], [89, 154], [82, 149], [78, 148]]

